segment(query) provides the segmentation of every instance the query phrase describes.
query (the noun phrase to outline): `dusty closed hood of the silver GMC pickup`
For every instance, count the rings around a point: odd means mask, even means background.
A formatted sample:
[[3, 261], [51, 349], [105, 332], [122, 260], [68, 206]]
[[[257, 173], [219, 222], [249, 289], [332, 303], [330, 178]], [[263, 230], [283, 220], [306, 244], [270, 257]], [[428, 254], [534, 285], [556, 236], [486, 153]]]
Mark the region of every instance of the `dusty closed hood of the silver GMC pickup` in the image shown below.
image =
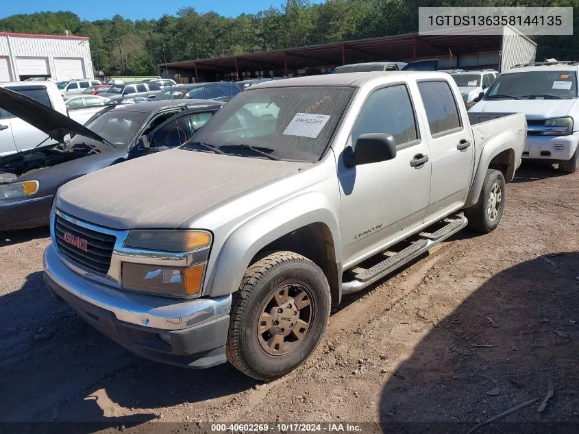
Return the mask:
[[172, 149], [64, 184], [56, 207], [119, 230], [178, 228], [210, 206], [308, 165]]

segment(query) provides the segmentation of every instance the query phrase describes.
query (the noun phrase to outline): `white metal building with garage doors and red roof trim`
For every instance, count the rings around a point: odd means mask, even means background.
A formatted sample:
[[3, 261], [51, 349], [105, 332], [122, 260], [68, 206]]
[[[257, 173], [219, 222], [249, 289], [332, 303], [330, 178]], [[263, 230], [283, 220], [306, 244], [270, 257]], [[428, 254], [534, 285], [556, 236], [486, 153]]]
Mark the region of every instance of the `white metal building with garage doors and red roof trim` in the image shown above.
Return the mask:
[[93, 78], [88, 38], [0, 32], [0, 82]]

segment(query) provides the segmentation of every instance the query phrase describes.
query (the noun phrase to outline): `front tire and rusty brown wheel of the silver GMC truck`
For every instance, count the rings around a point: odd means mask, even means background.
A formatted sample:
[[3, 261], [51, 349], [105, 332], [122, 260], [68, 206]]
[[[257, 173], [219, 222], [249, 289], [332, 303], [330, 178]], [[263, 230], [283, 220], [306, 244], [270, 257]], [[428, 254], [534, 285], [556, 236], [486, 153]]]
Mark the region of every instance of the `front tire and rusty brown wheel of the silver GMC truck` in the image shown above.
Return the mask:
[[328, 279], [294, 252], [275, 252], [251, 265], [233, 296], [227, 360], [261, 381], [304, 363], [330, 317]]

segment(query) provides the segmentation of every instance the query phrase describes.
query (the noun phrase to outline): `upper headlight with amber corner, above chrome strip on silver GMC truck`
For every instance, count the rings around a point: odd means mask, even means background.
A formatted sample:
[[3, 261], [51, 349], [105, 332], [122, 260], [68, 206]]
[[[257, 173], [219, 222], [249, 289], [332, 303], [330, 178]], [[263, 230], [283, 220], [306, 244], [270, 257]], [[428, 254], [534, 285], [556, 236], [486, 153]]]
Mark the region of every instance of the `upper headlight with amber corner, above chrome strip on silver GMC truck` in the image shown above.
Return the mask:
[[132, 230], [125, 241], [126, 247], [190, 252], [211, 245], [211, 234], [204, 230]]

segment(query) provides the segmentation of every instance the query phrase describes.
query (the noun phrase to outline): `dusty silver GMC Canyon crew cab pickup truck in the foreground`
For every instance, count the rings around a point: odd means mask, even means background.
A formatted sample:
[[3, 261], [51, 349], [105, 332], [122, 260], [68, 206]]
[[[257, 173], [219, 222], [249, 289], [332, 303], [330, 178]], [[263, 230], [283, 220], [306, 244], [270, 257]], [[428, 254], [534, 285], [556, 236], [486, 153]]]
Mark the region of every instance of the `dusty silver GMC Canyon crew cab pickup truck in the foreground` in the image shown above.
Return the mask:
[[343, 295], [495, 229], [525, 135], [522, 114], [471, 125], [446, 73], [257, 84], [180, 148], [62, 186], [45, 280], [144, 357], [278, 378]]

